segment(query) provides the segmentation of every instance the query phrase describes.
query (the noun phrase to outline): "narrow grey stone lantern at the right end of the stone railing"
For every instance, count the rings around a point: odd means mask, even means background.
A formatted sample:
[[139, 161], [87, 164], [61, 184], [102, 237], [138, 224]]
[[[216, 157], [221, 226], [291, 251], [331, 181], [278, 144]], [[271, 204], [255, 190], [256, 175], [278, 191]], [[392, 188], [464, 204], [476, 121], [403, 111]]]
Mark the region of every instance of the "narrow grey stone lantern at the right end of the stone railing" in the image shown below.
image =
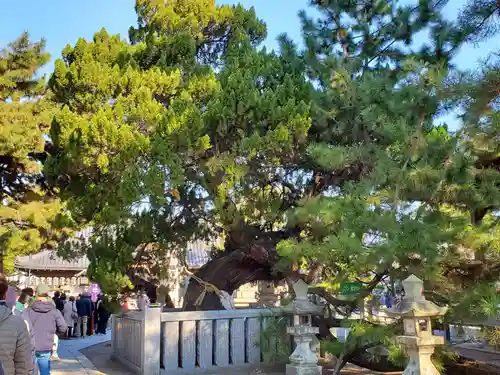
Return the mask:
[[311, 342], [319, 333], [319, 328], [311, 324], [312, 315], [321, 315], [321, 307], [307, 298], [309, 285], [299, 279], [293, 284], [295, 300], [282, 307], [282, 311], [293, 316], [293, 325], [287, 327], [292, 335], [295, 350], [290, 355], [290, 363], [286, 365], [286, 375], [321, 375], [322, 367], [318, 366], [318, 357], [311, 350]]

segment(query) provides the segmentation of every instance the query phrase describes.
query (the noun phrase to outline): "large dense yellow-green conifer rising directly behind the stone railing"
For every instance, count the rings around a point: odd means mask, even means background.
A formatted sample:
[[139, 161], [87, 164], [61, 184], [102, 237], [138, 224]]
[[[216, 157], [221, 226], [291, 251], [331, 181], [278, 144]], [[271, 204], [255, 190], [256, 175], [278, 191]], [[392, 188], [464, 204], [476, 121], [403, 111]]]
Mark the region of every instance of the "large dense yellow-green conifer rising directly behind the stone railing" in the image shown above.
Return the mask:
[[88, 250], [93, 275], [124, 274], [141, 244], [166, 252], [226, 235], [217, 268], [205, 268], [228, 271], [219, 289], [272, 278], [267, 243], [287, 235], [274, 223], [310, 124], [293, 45], [281, 57], [257, 50], [265, 25], [241, 6], [137, 1], [136, 10], [130, 43], [105, 30], [81, 39], [50, 80], [59, 152], [46, 172], [105, 244]]

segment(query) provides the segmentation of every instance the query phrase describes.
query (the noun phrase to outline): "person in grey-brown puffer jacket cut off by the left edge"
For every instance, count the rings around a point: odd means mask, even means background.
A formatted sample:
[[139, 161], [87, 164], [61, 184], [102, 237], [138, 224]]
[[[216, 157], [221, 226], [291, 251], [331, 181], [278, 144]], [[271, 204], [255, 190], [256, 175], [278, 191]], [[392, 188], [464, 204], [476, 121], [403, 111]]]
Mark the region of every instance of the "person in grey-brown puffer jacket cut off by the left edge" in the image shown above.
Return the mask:
[[0, 273], [0, 374], [26, 375], [31, 369], [28, 327], [7, 305], [7, 278]]

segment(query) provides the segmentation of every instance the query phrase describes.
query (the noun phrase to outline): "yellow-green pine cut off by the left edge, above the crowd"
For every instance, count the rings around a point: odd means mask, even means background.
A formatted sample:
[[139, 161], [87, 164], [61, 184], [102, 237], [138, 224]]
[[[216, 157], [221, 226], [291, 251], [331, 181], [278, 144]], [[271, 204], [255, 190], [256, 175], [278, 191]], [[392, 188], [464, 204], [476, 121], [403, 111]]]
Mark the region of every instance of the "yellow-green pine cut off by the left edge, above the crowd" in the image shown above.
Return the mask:
[[41, 173], [52, 116], [39, 74], [50, 60], [44, 48], [24, 33], [0, 52], [0, 272], [17, 255], [54, 246], [63, 224]]

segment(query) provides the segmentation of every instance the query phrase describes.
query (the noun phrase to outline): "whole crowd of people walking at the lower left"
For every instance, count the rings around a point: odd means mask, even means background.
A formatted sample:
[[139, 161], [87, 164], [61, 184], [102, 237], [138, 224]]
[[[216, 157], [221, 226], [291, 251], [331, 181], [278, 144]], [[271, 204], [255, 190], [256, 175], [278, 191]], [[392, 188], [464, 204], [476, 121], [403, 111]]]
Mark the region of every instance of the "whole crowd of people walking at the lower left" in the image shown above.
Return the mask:
[[49, 375], [59, 337], [106, 334], [109, 312], [103, 296], [66, 296], [39, 284], [19, 295], [0, 274], [0, 375]]

